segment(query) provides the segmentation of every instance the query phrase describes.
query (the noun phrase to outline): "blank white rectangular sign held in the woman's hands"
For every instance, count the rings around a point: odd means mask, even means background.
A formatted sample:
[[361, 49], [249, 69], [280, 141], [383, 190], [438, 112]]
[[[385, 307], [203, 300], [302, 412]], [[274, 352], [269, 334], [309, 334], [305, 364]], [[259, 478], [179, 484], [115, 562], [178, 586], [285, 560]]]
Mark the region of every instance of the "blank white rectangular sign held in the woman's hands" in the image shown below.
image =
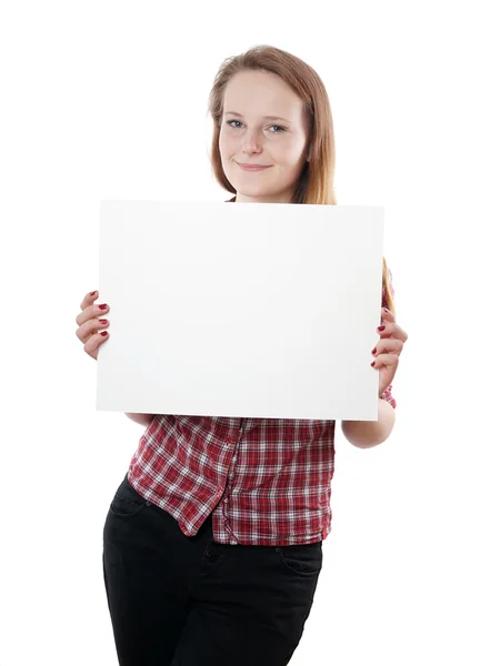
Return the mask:
[[102, 201], [97, 408], [376, 421], [383, 208]]

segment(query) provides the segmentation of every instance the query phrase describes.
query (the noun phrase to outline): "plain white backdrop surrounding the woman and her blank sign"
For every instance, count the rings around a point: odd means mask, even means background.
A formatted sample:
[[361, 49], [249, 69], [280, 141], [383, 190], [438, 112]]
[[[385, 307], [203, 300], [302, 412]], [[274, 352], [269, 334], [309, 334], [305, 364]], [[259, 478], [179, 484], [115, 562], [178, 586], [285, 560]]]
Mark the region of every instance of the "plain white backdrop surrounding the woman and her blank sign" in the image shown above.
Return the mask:
[[143, 428], [96, 411], [76, 336], [99, 204], [229, 199], [207, 99], [222, 60], [259, 43], [324, 81], [338, 203], [384, 206], [409, 335], [390, 438], [363, 451], [338, 428], [291, 664], [500, 660], [493, 4], [19, 0], [0, 22], [1, 666], [117, 664], [102, 527]]

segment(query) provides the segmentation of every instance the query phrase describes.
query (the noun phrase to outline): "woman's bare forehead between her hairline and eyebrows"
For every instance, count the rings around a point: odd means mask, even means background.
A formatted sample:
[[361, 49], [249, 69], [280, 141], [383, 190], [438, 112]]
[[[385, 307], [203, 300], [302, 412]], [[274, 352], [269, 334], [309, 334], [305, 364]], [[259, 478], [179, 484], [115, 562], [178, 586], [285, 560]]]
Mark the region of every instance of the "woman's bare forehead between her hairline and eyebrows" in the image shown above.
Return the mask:
[[281, 115], [299, 119], [301, 99], [277, 74], [247, 71], [236, 74], [226, 88], [224, 112], [249, 115]]

